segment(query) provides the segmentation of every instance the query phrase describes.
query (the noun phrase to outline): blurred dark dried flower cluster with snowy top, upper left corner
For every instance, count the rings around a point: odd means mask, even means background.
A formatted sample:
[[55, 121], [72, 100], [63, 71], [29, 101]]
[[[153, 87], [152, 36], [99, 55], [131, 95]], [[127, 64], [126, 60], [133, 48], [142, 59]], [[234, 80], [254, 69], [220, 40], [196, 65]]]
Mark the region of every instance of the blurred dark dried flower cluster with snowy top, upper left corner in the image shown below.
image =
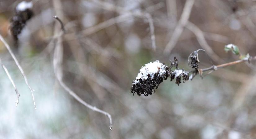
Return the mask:
[[18, 40], [18, 35], [25, 27], [26, 22], [33, 16], [32, 6], [32, 2], [25, 1], [20, 2], [16, 6], [15, 15], [11, 18], [10, 22], [11, 35], [16, 41]]

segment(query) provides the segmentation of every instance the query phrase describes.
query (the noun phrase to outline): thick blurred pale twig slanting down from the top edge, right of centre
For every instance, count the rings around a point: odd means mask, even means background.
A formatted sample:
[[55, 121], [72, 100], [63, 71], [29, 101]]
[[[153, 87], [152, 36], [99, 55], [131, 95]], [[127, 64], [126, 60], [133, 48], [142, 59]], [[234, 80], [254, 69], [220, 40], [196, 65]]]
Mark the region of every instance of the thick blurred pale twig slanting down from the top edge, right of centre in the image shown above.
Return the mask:
[[174, 29], [172, 38], [168, 42], [166, 47], [164, 48], [165, 54], [169, 54], [172, 51], [172, 49], [174, 48], [174, 46], [177, 44], [177, 41], [178, 41], [179, 37], [181, 36], [181, 33], [183, 32], [184, 26], [186, 25], [186, 23], [189, 19], [194, 2], [195, 2], [195, 0], [187, 0], [186, 1], [185, 6], [182, 11], [181, 18]]

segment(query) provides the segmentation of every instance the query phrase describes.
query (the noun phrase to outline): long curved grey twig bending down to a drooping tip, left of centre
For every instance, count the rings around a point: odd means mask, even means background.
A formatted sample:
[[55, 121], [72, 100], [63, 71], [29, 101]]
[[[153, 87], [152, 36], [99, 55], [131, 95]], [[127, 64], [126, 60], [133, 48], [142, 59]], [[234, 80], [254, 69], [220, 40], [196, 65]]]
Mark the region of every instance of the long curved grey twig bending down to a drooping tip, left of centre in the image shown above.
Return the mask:
[[[62, 23], [62, 22], [61, 22]], [[63, 30], [62, 30], [63, 31]], [[63, 32], [64, 33], [64, 32]], [[62, 46], [62, 36], [59, 36], [57, 38], [57, 42], [56, 42], [56, 47], [54, 50], [54, 58], [53, 58], [53, 67], [54, 67], [54, 73], [55, 76], [57, 78], [57, 80], [60, 82], [60, 85], [67, 91], [69, 92], [69, 94], [74, 97], [74, 99], [76, 99], [79, 103], [83, 104], [84, 106], [88, 107], [89, 109], [91, 109], [92, 111], [95, 112], [99, 112], [102, 113], [104, 115], [106, 115], [109, 118], [109, 122], [110, 122], [110, 130], [112, 130], [113, 125], [112, 125], [112, 118], [111, 115], [108, 112], [105, 112], [99, 108], [97, 108], [96, 106], [92, 106], [88, 103], [86, 103], [85, 101], [83, 101], [83, 99], [81, 99], [78, 95], [76, 95], [76, 93], [74, 93], [64, 82], [63, 82], [63, 69], [62, 69], [62, 63], [63, 63], [63, 46]]]

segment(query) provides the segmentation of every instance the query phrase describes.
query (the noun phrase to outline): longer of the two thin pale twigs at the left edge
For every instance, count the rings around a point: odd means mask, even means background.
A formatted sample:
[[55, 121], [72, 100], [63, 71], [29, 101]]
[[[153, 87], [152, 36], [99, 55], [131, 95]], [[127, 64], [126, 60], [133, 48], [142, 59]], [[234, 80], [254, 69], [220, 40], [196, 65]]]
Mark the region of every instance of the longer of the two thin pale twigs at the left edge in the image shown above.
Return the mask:
[[29, 87], [29, 90], [31, 92], [31, 95], [32, 95], [32, 98], [33, 98], [33, 102], [34, 102], [34, 107], [35, 107], [35, 110], [36, 110], [36, 103], [35, 103], [35, 99], [34, 99], [34, 94], [33, 94], [33, 89], [30, 87], [29, 85], [29, 82], [28, 82], [28, 79], [26, 77], [26, 75], [24, 74], [24, 71], [23, 69], [21, 68], [20, 66], [20, 63], [18, 62], [17, 58], [15, 57], [15, 55], [13, 54], [9, 44], [7, 44], [7, 42], [4, 40], [4, 38], [2, 37], [2, 35], [0, 34], [0, 40], [3, 42], [3, 44], [5, 45], [5, 47], [8, 49], [9, 53], [11, 54], [11, 57], [12, 59], [15, 61], [17, 67], [19, 68], [20, 70], [20, 73], [22, 74], [24, 80], [25, 80], [25, 83], [26, 85]]

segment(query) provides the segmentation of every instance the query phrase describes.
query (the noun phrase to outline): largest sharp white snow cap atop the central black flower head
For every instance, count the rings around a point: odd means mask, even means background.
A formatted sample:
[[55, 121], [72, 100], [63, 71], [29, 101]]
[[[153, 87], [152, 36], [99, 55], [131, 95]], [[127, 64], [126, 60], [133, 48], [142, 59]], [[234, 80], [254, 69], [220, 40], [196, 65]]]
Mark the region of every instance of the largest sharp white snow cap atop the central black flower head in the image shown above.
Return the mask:
[[158, 60], [145, 64], [145, 66], [141, 67], [140, 73], [138, 73], [136, 79], [134, 80], [134, 84], [139, 82], [137, 81], [137, 79], [142, 78], [146, 80], [148, 78], [148, 75], [150, 75], [150, 77], [153, 78], [157, 72], [159, 73], [159, 76], [161, 76], [162, 74], [165, 74], [166, 67], [167, 67], [166, 65], [159, 62]]

